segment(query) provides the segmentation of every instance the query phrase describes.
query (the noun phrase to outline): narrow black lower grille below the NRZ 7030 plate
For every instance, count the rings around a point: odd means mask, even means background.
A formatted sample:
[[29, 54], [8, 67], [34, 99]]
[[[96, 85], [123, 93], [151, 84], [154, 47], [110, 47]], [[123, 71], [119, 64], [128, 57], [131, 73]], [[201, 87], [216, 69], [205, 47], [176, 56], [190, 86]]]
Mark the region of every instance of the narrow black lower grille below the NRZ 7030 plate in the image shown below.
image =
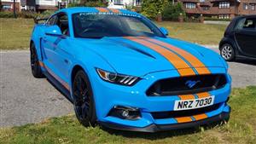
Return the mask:
[[219, 107], [220, 107], [220, 104], [215, 104], [209, 107], [202, 107], [202, 108], [193, 109], [193, 110], [151, 112], [151, 115], [154, 119], [189, 117], [189, 116], [197, 115], [201, 113], [212, 112], [214, 110], [217, 110]]

